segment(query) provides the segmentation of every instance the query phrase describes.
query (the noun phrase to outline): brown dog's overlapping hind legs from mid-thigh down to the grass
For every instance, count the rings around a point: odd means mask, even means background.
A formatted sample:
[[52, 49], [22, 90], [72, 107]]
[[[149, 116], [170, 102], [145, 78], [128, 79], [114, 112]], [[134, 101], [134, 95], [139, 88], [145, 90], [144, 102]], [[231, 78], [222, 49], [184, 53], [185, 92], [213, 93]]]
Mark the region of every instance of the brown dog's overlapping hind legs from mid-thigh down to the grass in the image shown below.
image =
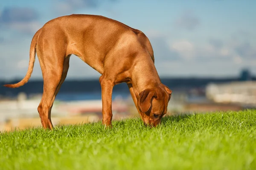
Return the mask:
[[[51, 55], [38, 55], [44, 79], [44, 91], [41, 102], [38, 106], [38, 113], [42, 126], [45, 129], [52, 129], [51, 110], [55, 97], [67, 76], [69, 58], [65, 58], [61, 52], [52, 52]], [[58, 54], [58, 55], [57, 55]]]

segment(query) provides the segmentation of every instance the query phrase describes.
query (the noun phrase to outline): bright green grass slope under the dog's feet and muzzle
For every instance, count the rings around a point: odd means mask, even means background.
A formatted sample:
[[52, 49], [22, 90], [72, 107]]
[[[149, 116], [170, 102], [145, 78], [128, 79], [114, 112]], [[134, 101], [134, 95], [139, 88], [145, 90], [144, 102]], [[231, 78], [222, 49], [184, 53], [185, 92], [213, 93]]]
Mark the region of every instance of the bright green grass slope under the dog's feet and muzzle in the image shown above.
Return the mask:
[[256, 110], [139, 119], [0, 134], [1, 170], [256, 169]]

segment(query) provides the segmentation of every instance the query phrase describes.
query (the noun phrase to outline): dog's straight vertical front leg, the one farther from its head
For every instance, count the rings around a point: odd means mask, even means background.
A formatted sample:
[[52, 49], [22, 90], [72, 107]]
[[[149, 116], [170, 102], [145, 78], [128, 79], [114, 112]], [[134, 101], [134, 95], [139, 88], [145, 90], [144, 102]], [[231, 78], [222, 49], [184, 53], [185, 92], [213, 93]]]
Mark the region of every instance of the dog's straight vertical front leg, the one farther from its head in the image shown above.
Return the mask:
[[99, 82], [102, 88], [102, 124], [105, 127], [112, 127], [112, 91], [114, 84], [104, 75], [99, 78]]

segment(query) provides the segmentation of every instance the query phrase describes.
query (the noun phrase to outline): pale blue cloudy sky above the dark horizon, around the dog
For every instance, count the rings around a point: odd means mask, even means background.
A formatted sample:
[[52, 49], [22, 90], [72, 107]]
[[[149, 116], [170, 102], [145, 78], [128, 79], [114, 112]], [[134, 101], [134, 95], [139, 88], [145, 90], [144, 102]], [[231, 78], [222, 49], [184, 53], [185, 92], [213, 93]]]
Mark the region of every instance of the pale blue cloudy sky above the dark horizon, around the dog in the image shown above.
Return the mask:
[[[47, 21], [96, 14], [140, 29], [149, 38], [160, 77], [256, 75], [256, 0], [1, 0], [0, 79], [26, 75], [29, 47]], [[99, 78], [75, 55], [67, 79]], [[36, 57], [31, 79], [41, 79]]]

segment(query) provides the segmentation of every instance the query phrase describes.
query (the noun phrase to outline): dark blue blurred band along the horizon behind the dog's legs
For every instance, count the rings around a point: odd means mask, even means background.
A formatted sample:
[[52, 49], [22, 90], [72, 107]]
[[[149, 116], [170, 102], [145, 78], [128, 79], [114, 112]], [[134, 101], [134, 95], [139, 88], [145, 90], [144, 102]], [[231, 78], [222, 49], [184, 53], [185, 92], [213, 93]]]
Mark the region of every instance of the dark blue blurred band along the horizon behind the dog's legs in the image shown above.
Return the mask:
[[[251, 78], [256, 80], [256, 77]], [[42, 93], [43, 81], [30, 80], [24, 86], [11, 89], [4, 87], [4, 84], [13, 84], [18, 82], [0, 81], [0, 95], [16, 96], [20, 92], [25, 92], [28, 95]], [[190, 89], [190, 88], [204, 88], [209, 83], [225, 83], [231, 81], [241, 81], [240, 78], [161, 78], [161, 81], [170, 89]], [[114, 91], [129, 92], [128, 86], [125, 83], [118, 84], [114, 87]], [[60, 93], [76, 93], [76, 92], [100, 92], [101, 86], [98, 80], [66, 80], [60, 89]]]

